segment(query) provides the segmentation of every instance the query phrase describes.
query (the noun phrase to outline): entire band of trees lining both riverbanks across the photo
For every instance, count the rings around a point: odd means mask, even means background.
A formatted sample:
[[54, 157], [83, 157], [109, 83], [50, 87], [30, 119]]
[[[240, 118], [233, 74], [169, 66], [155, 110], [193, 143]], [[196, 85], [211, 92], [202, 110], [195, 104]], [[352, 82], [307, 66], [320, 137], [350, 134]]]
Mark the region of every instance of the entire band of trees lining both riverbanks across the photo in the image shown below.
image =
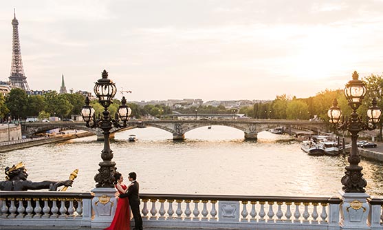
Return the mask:
[[[380, 108], [383, 106], [383, 76], [371, 74], [362, 80], [366, 84], [367, 93], [362, 106], [358, 109], [358, 113], [366, 116], [366, 110], [371, 106], [373, 98], [377, 98], [377, 105]], [[180, 107], [177, 109], [172, 109], [166, 105], [140, 106], [128, 103], [128, 106], [132, 109], [131, 117], [135, 118], [148, 115], [161, 117], [165, 114], [179, 112], [182, 114], [239, 113], [245, 114], [250, 118], [299, 120], [314, 118], [316, 115], [323, 121], [327, 121], [327, 110], [331, 107], [334, 98], [338, 100], [338, 106], [342, 109], [344, 116], [351, 114], [351, 108], [347, 105], [343, 90], [325, 90], [309, 98], [296, 98], [295, 96], [282, 94], [276, 96], [273, 101], [241, 107], [239, 111], [237, 109], [226, 109], [223, 105], [217, 107], [200, 105], [198, 107]], [[85, 97], [81, 94], [57, 94], [57, 92], [49, 92], [44, 96], [28, 96], [23, 90], [14, 88], [6, 98], [0, 94], [0, 118], [5, 119], [8, 117], [8, 114], [12, 116], [12, 119], [20, 118], [21, 120], [28, 116], [38, 116], [40, 119], [48, 118], [49, 116], [69, 118], [72, 114], [80, 114], [84, 104]], [[91, 101], [91, 105], [94, 107], [96, 115], [101, 114], [104, 110], [97, 100]], [[111, 116], [116, 114], [120, 105], [121, 102], [118, 99], [113, 101], [113, 104], [109, 107]]]

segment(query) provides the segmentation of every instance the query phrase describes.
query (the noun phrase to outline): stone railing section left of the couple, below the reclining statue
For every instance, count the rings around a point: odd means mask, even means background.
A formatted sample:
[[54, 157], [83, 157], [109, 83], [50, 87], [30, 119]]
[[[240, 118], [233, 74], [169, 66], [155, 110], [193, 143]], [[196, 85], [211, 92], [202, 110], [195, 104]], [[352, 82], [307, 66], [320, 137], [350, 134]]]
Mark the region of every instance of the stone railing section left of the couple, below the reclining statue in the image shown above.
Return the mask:
[[0, 191], [1, 226], [91, 226], [90, 193]]

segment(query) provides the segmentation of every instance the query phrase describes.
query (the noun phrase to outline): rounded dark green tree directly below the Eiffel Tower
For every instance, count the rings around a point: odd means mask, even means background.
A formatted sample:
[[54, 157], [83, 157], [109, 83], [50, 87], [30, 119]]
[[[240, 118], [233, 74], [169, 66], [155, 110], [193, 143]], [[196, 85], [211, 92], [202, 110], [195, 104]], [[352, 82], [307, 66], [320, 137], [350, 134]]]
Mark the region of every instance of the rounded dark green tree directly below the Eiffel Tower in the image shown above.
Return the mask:
[[28, 96], [24, 90], [13, 88], [6, 97], [6, 106], [14, 118], [26, 118], [28, 114]]

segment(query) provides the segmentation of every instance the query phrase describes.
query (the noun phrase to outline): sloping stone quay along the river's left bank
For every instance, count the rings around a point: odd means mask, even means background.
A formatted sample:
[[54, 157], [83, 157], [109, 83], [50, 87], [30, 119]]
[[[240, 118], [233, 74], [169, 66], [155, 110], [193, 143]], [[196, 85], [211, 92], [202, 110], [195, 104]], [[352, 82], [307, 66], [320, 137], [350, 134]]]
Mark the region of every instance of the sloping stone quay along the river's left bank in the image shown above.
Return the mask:
[[92, 136], [92, 135], [94, 134], [91, 132], [77, 132], [74, 134], [56, 134], [54, 136], [49, 136], [49, 137], [8, 141], [8, 142], [0, 143], [0, 152], [23, 149], [23, 148], [33, 147], [37, 145], [45, 145], [48, 143], [58, 143], [65, 140], [82, 138], [85, 136]]

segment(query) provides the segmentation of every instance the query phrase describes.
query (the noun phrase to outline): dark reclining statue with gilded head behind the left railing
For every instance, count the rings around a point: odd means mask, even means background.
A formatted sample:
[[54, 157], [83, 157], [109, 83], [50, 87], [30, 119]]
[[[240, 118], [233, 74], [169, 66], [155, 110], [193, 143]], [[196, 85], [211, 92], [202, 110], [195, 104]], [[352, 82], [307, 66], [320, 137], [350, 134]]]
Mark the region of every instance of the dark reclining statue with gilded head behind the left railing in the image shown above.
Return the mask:
[[60, 186], [72, 187], [73, 180], [32, 182], [27, 180], [28, 173], [24, 163], [6, 167], [6, 180], [0, 181], [0, 190], [3, 191], [27, 191], [28, 189], [49, 189], [56, 191]]

